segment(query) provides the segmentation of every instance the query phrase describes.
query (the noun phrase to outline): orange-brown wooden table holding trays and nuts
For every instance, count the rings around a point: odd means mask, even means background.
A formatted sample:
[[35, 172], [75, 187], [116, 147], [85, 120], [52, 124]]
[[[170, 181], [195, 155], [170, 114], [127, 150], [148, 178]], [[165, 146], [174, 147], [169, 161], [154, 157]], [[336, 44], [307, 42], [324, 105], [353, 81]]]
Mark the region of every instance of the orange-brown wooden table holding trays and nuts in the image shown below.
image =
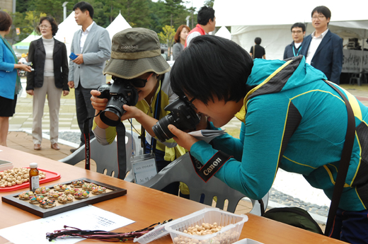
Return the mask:
[[[150, 226], [152, 223], [166, 219], [177, 219], [191, 214], [194, 211], [204, 209], [207, 205], [176, 197], [172, 194], [160, 192], [147, 187], [142, 187], [124, 180], [111, 178], [100, 173], [84, 170], [75, 166], [67, 165], [49, 158], [42, 158], [30, 153], [24, 153], [15, 149], [0, 146], [0, 159], [11, 161], [14, 167], [28, 167], [30, 163], [38, 163], [38, 167], [60, 173], [62, 178], [47, 182], [43, 186], [54, 185], [59, 182], [75, 180], [78, 178], [89, 178], [98, 182], [127, 189], [127, 194], [122, 197], [110, 199], [105, 202], [93, 204], [95, 207], [111, 211], [120, 216], [132, 219], [135, 223], [122, 228], [117, 232], [136, 231], [140, 228]], [[19, 190], [18, 192], [23, 192]], [[0, 192], [0, 197], [13, 192]], [[14, 226], [19, 223], [40, 219], [40, 217], [23, 211], [10, 204], [0, 202], [0, 228]], [[250, 238], [261, 243], [343, 243], [339, 240], [304, 231], [300, 228], [288, 226], [283, 223], [265, 219], [260, 216], [248, 214], [249, 220], [244, 224], [240, 239]], [[5, 220], [5, 221], [4, 221]], [[78, 226], [74, 226], [78, 228]], [[62, 227], [60, 227], [62, 228]], [[54, 230], [52, 230], [54, 231]], [[0, 236], [0, 244], [9, 243]], [[83, 240], [82, 243], [98, 243], [96, 240]], [[172, 243], [170, 236], [165, 236], [151, 243]]]

